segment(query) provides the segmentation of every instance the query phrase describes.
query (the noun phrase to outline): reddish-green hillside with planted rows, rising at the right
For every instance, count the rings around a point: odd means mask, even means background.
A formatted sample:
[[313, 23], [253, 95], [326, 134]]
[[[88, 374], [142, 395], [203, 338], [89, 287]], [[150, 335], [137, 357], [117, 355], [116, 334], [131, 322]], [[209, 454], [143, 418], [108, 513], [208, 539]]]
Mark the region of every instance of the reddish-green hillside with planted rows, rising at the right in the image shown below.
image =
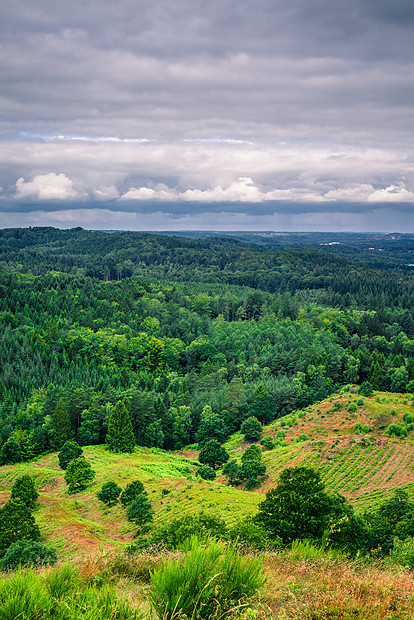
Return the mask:
[[[304, 465], [316, 468], [329, 490], [348, 497], [357, 509], [377, 505], [397, 488], [413, 498], [414, 431], [405, 439], [385, 434], [406, 413], [414, 416], [406, 395], [345, 393], [276, 420], [263, 436], [276, 440], [283, 432], [287, 446], [263, 453], [269, 478], [260, 493], [274, 486], [285, 467]], [[237, 458], [247, 445], [237, 434], [227, 448]]]

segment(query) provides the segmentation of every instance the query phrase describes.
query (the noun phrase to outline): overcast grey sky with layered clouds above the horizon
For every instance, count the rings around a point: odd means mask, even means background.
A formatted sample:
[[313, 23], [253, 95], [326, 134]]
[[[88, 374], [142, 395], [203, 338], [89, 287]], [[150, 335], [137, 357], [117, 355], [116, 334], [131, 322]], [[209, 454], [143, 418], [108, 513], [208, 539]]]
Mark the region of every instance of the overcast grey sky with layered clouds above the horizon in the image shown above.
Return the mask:
[[0, 228], [414, 232], [412, 0], [0, 7]]

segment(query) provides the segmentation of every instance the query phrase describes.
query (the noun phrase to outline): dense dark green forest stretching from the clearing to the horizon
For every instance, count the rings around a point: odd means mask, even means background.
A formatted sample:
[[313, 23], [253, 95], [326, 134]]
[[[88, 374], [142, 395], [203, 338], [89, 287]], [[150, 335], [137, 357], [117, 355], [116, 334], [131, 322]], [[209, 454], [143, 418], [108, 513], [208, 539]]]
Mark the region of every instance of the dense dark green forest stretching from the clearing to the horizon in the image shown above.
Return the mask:
[[0, 449], [105, 443], [119, 401], [136, 445], [177, 450], [346, 384], [414, 391], [411, 238], [379, 266], [292, 237], [0, 231]]

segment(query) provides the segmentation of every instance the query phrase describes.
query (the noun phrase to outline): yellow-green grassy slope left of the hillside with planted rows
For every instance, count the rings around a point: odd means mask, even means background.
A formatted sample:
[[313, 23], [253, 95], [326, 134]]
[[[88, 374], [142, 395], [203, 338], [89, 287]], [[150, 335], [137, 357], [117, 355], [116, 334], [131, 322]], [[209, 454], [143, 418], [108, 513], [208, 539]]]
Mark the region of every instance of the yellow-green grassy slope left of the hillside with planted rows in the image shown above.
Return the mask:
[[193, 461], [162, 450], [136, 448], [134, 454], [112, 454], [103, 446], [89, 446], [84, 448], [84, 454], [96, 471], [96, 477], [85, 491], [76, 495], [67, 493], [65, 472], [59, 468], [57, 453], [0, 468], [0, 505], [7, 501], [17, 476], [36, 477], [40, 493], [36, 521], [47, 542], [58, 549], [60, 556], [132, 540], [133, 527], [123, 508], [107, 508], [96, 497], [108, 480], [124, 488], [128, 482], [139, 478], [153, 505], [155, 525], [200, 510], [219, 515], [231, 524], [239, 517], [256, 512], [261, 499], [256, 493], [202, 481], [196, 475]]

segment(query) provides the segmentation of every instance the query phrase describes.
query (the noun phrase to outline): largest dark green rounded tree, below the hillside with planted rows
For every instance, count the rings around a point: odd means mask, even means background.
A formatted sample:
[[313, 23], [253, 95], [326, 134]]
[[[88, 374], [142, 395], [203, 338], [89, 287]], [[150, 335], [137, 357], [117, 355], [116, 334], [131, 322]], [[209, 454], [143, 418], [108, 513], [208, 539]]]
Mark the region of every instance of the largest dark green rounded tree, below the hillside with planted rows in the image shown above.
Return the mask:
[[318, 472], [308, 467], [288, 467], [278, 485], [259, 504], [257, 520], [284, 543], [295, 538], [321, 539], [330, 515], [340, 512], [336, 498], [325, 492]]

